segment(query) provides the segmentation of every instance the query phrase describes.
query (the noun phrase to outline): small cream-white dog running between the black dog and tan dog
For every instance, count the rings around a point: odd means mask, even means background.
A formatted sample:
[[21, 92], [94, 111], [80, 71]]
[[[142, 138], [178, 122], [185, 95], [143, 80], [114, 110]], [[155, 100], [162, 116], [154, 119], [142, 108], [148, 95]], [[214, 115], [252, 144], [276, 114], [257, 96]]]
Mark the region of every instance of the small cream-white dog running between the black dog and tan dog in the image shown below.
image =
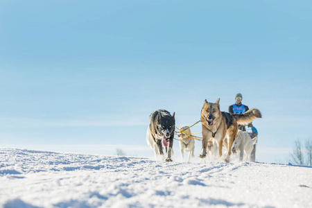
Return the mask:
[[189, 152], [189, 160], [191, 157], [194, 156], [194, 149], [195, 149], [195, 141], [192, 139], [191, 136], [191, 130], [189, 129], [189, 125], [180, 125], [180, 130], [185, 130], [183, 132], [179, 132], [177, 134], [177, 137], [179, 137], [180, 141], [180, 151], [181, 151], [181, 156], [182, 159], [184, 159], [184, 150], [186, 152]]

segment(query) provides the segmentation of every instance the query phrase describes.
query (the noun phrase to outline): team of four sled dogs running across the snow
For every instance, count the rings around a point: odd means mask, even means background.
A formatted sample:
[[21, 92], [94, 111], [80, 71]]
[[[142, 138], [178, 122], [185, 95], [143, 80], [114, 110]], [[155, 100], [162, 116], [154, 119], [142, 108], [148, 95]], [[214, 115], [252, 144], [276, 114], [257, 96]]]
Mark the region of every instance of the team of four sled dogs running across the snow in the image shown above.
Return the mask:
[[[256, 118], [261, 118], [261, 112], [252, 108], [243, 114], [229, 114], [220, 111], [220, 98], [216, 103], [205, 100], [200, 113], [202, 122], [202, 151], [200, 158], [207, 157], [207, 153], [217, 151], [218, 157], [222, 156], [222, 148], [225, 146], [225, 162], [229, 162], [229, 156], [240, 151], [240, 159], [245, 153], [245, 161], [250, 161], [252, 148], [257, 137], [251, 139], [247, 132], [239, 130], [238, 125], [250, 123]], [[177, 135], [180, 139], [181, 155], [184, 151], [189, 153], [189, 160], [194, 157], [195, 141], [191, 139], [191, 130], [188, 125], [181, 125]], [[148, 146], [154, 149], [155, 156], [163, 158], [166, 162], [172, 162], [173, 137], [175, 134], [175, 112], [171, 115], [166, 110], [155, 110], [150, 114], [150, 125], [146, 133]], [[164, 155], [165, 148], [165, 155]]]

